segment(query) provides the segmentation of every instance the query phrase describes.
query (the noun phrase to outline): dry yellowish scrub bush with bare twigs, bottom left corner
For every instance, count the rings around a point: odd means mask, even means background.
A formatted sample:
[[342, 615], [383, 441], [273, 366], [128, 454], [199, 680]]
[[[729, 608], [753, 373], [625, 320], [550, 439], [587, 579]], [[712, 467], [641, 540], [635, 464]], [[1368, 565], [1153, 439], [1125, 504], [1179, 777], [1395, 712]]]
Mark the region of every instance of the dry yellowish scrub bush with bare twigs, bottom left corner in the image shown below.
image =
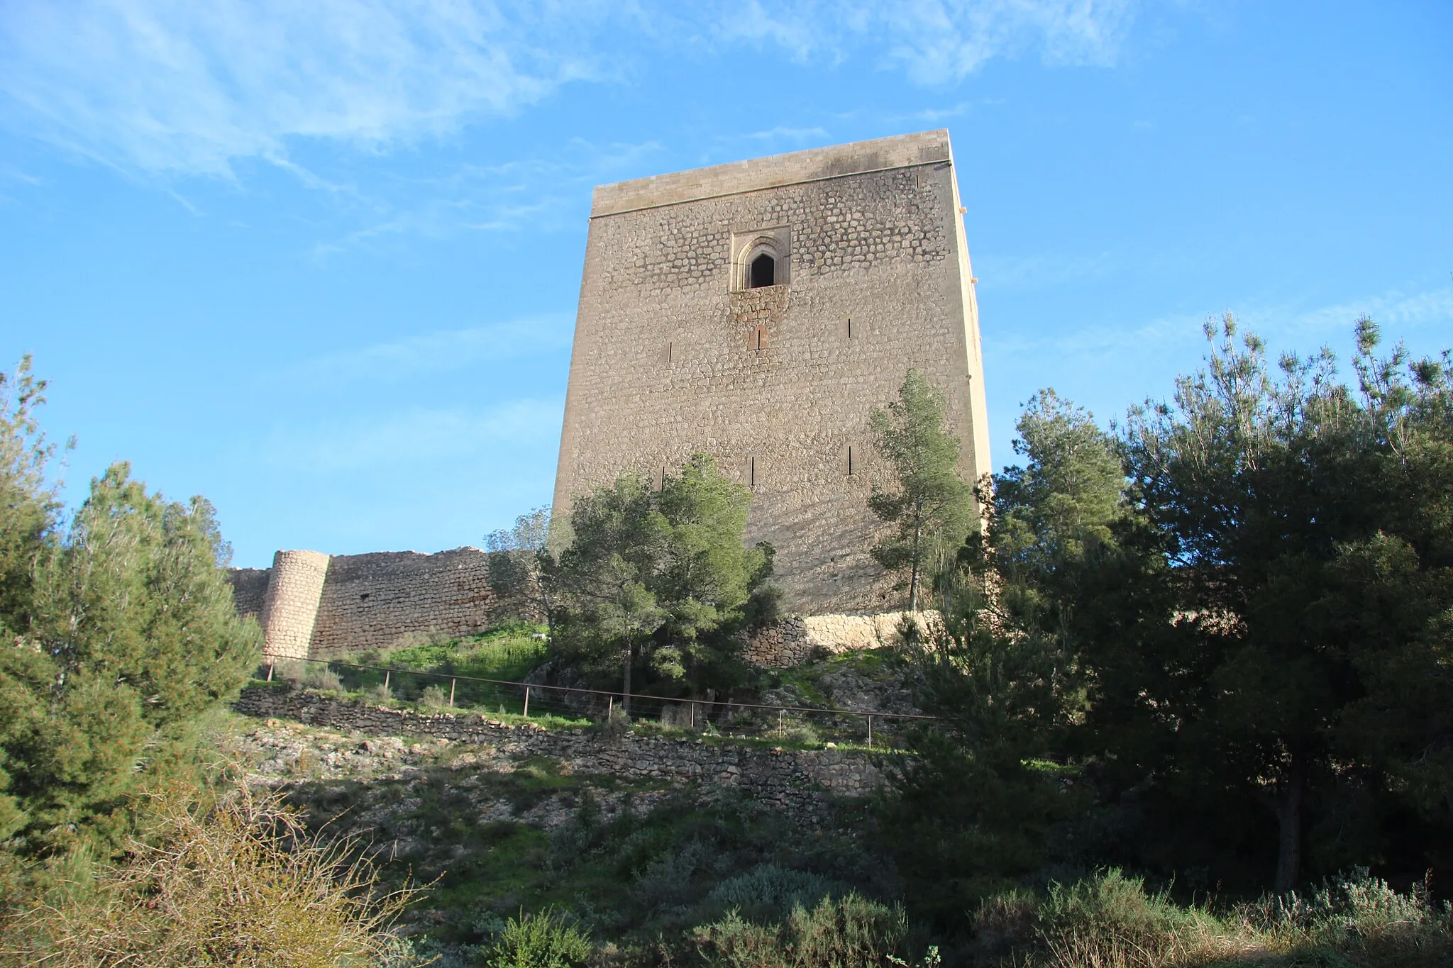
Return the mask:
[[273, 791], [208, 807], [151, 801], [150, 836], [93, 890], [70, 885], [0, 933], [0, 961], [46, 968], [341, 968], [414, 964], [388, 929], [417, 894], [378, 895], [357, 843], [321, 843]]

